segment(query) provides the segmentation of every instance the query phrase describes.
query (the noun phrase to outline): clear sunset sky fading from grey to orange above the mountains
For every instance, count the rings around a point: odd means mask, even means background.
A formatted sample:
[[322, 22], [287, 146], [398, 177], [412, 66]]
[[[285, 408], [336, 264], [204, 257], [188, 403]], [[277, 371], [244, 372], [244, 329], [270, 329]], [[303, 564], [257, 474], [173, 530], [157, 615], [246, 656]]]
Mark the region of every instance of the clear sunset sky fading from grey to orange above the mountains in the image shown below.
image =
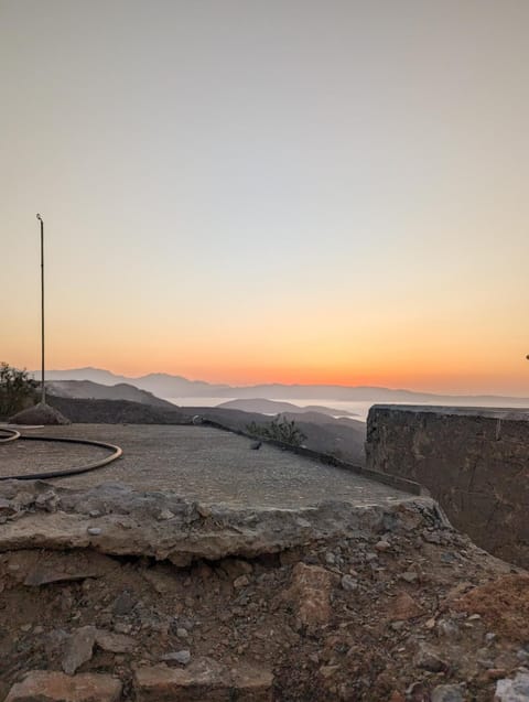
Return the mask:
[[529, 395], [527, 0], [0, 0], [0, 360]]

